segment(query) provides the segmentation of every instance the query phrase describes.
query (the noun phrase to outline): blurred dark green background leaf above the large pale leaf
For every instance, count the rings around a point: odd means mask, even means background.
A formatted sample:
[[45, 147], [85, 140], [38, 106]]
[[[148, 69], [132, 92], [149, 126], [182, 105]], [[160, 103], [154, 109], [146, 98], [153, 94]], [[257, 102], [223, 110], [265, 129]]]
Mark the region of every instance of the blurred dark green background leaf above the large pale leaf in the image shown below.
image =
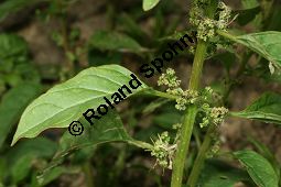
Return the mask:
[[90, 37], [89, 47], [94, 47], [100, 51], [130, 53], [140, 53], [147, 51], [130, 36], [109, 31], [95, 32]]

